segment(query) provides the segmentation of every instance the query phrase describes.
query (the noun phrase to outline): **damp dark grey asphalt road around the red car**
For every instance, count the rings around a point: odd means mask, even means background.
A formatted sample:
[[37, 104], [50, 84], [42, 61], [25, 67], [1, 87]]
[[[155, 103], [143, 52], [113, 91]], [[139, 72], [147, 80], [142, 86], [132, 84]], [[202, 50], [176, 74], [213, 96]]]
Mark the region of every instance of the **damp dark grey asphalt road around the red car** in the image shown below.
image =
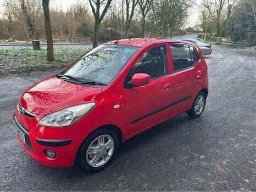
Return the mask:
[[256, 54], [213, 48], [202, 116], [181, 114], [123, 145], [98, 173], [43, 167], [18, 144], [12, 115], [21, 92], [56, 71], [0, 79], [0, 189], [8, 191], [256, 190]]

